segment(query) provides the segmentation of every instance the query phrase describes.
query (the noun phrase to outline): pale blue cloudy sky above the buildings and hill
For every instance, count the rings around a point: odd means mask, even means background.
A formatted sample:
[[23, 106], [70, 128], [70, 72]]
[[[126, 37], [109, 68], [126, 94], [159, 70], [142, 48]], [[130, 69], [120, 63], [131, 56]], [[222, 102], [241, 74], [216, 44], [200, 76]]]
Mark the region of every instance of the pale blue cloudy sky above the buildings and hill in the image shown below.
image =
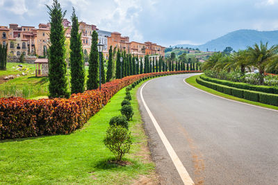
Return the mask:
[[[163, 44], [204, 44], [238, 29], [278, 30], [278, 0], [58, 0], [70, 19], [131, 40]], [[0, 0], [0, 25], [47, 23], [51, 0]]]

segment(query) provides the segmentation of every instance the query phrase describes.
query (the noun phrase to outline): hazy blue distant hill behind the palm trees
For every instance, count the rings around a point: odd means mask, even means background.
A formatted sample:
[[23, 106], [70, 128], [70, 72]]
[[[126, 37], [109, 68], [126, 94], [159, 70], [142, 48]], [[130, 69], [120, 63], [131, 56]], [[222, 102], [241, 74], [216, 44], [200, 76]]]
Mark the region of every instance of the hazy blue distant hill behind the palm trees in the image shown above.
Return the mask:
[[213, 39], [206, 44], [194, 46], [189, 44], [179, 44], [177, 47], [194, 48], [200, 51], [223, 51], [227, 46], [231, 46], [235, 51], [246, 49], [247, 46], [253, 46], [255, 43], [268, 42], [269, 46], [278, 44], [278, 30], [258, 31], [258, 30], [236, 30], [228, 33], [218, 39]]

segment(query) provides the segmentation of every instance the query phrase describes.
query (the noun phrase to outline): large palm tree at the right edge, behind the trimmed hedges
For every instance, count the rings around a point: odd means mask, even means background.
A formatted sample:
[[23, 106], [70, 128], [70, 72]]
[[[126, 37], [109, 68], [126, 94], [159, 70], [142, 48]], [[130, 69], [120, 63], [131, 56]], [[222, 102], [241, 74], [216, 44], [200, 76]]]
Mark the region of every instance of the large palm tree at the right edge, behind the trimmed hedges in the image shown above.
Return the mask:
[[273, 45], [268, 49], [268, 42], [261, 45], [254, 44], [254, 47], [248, 47], [248, 62], [252, 64], [254, 67], [259, 69], [260, 74], [260, 84], [263, 84], [263, 73], [265, 72], [265, 68], [267, 65], [277, 58], [278, 45]]

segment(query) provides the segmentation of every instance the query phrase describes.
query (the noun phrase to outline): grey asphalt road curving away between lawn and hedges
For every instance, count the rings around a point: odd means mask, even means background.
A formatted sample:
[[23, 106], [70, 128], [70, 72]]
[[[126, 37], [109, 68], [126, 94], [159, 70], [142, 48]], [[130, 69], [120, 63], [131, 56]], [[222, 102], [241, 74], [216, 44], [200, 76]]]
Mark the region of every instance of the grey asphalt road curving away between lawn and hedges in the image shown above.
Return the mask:
[[[278, 184], [278, 112], [206, 94], [188, 76], [149, 81], [142, 96], [195, 184]], [[183, 184], [140, 89], [138, 100], [161, 184]]]

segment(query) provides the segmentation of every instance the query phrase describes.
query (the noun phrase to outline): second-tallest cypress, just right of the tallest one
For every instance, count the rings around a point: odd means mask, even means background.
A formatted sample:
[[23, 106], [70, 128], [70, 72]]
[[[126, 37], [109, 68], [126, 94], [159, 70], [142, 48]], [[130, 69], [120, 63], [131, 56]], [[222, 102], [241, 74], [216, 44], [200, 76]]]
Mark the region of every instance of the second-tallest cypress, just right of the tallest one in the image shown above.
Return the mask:
[[85, 91], [85, 70], [83, 63], [83, 49], [81, 33], [79, 33], [79, 21], [75, 10], [72, 12], [72, 30], [70, 33], [70, 75], [72, 94], [83, 93]]

